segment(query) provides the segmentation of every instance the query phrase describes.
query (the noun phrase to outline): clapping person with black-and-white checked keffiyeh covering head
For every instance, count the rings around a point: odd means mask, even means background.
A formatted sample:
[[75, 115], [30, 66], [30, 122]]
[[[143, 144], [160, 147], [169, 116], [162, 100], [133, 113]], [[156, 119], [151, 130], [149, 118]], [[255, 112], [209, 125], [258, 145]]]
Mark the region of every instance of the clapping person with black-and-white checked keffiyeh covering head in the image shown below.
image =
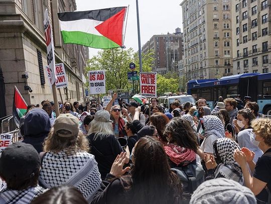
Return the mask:
[[205, 154], [205, 164], [208, 176], [206, 180], [224, 177], [243, 184], [243, 174], [241, 167], [234, 160], [235, 149], [241, 150], [239, 145], [230, 138], [219, 138], [213, 143], [217, 165], [213, 155]]

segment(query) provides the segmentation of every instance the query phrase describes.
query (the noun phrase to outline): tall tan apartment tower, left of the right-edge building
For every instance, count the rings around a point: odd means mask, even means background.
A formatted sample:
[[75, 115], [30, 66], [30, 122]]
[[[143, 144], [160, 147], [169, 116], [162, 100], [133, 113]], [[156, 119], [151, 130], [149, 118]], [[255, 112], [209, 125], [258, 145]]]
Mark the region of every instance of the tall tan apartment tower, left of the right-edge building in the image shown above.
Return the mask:
[[232, 75], [231, 0], [184, 0], [184, 72], [188, 80]]

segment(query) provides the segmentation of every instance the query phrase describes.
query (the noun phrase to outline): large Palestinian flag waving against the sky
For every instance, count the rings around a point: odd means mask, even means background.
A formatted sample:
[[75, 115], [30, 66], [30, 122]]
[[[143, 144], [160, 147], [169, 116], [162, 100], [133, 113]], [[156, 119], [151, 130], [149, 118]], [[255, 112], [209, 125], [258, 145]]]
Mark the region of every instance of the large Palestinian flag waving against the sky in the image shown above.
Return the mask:
[[121, 47], [125, 12], [126, 7], [116, 7], [58, 13], [64, 44], [101, 49]]

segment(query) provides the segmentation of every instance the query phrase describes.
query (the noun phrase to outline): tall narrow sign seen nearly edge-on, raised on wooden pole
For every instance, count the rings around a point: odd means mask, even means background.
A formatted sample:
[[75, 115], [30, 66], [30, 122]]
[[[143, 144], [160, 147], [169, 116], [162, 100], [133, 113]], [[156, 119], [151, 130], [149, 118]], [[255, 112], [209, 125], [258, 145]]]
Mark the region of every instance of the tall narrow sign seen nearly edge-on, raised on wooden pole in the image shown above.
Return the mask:
[[47, 47], [47, 65], [49, 66], [50, 70], [50, 84], [53, 85], [56, 82], [56, 72], [55, 72], [55, 51], [54, 51], [54, 41], [53, 41], [53, 30], [52, 25], [49, 20], [48, 10], [45, 10], [44, 13], [44, 35], [46, 40], [46, 47]]

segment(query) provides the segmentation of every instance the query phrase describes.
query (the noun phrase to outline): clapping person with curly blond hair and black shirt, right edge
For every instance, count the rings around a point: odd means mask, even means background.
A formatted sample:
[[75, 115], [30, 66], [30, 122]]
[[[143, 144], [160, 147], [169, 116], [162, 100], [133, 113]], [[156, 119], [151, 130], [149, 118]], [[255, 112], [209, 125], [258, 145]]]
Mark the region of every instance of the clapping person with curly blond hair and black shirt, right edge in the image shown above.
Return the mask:
[[[257, 160], [253, 161], [254, 152], [247, 148], [241, 151], [235, 150], [234, 158], [241, 166], [246, 187], [256, 196], [257, 203], [270, 203], [271, 201], [271, 119], [259, 118], [251, 123], [254, 135], [251, 142], [257, 145], [264, 153]], [[250, 175], [247, 164], [250, 168]]]

